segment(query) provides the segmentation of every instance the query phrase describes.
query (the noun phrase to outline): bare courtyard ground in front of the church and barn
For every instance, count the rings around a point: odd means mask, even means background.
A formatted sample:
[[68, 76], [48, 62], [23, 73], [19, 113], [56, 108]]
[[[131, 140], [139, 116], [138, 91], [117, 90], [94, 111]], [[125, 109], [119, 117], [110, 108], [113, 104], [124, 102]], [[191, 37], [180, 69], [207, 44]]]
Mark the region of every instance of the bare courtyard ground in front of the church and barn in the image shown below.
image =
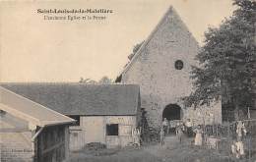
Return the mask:
[[[251, 160], [251, 162], [255, 162]], [[175, 136], [167, 136], [165, 144], [151, 144], [122, 149], [81, 150], [71, 153], [69, 162], [236, 162], [222, 151], [195, 147], [191, 138], [179, 143]], [[238, 160], [245, 162], [246, 160]]]

